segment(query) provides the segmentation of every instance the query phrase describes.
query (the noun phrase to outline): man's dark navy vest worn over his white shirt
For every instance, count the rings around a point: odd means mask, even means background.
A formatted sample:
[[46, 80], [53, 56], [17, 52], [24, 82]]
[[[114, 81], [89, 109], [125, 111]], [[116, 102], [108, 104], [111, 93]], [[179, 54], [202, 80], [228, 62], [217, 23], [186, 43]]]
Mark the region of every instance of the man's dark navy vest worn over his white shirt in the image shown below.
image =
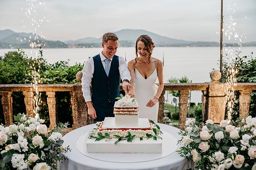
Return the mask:
[[108, 102], [115, 104], [115, 98], [119, 96], [120, 74], [119, 57], [114, 55], [109, 74], [107, 76], [99, 54], [93, 57], [94, 72], [92, 78], [92, 102], [106, 107]]

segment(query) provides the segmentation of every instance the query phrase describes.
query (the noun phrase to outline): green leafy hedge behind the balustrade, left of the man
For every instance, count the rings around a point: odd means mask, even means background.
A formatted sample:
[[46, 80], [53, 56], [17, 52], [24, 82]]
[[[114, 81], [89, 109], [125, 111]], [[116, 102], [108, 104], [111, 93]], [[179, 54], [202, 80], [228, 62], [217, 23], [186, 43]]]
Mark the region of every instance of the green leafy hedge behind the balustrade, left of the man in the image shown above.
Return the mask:
[[[84, 67], [81, 63], [70, 66], [69, 61], [57, 61], [48, 63], [43, 58], [43, 51], [40, 50], [40, 57], [33, 59], [28, 57], [23, 50], [18, 52], [8, 52], [0, 57], [0, 84], [30, 84], [33, 82], [31, 76], [34, 64], [39, 68], [42, 84], [72, 84], [77, 83], [75, 78], [78, 71]], [[13, 115], [26, 112], [24, 96], [22, 92], [13, 92]], [[69, 92], [56, 92], [57, 122], [69, 122], [72, 125], [71, 96]], [[46, 120], [49, 125], [49, 111], [46, 100], [46, 93], [41, 94], [40, 118]], [[0, 105], [0, 123], [4, 124], [2, 105]]]

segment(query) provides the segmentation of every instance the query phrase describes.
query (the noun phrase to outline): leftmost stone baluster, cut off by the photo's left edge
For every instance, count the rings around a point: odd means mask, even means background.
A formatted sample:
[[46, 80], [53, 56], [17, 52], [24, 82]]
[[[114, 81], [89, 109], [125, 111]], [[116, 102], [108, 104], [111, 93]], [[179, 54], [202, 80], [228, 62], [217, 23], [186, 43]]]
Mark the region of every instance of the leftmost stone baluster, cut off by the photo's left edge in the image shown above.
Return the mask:
[[8, 126], [13, 124], [13, 98], [11, 96], [13, 92], [0, 92], [1, 103], [4, 111], [4, 122]]

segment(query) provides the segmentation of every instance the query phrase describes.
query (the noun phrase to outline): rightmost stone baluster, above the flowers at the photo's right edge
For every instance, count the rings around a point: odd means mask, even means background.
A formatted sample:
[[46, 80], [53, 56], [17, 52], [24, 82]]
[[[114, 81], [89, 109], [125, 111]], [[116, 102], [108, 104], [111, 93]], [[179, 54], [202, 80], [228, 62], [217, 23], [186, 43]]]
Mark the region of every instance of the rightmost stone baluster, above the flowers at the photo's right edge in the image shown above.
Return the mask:
[[249, 108], [251, 102], [252, 90], [239, 90], [239, 116], [247, 118], [249, 116]]

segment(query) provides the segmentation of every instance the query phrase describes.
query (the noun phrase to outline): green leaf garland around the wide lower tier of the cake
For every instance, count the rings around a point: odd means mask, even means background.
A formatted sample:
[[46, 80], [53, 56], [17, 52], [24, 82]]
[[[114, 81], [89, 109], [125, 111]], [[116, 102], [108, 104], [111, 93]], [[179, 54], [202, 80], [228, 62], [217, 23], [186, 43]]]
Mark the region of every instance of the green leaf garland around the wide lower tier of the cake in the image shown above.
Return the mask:
[[[153, 125], [152, 131], [154, 132], [154, 135], [146, 133], [147, 139], [149, 139], [151, 137], [154, 140], [157, 140], [157, 138], [162, 139], [161, 135], [163, 133], [160, 130], [160, 127], [157, 124], [155, 124], [155, 122], [152, 120], [150, 120], [150, 123]], [[110, 137], [109, 133], [102, 134], [101, 132], [99, 132], [99, 128], [101, 125], [102, 125], [102, 122], [98, 122], [96, 124], [96, 127], [93, 128], [91, 133], [88, 135], [89, 139], [95, 139], [95, 141], [100, 141], [102, 139], [106, 139], [106, 140], [113, 139], [112, 137]], [[126, 136], [119, 136], [119, 135], [114, 135], [114, 136], [115, 136], [115, 138], [117, 138], [117, 140], [115, 141], [115, 144], [117, 144], [121, 140], [126, 140], [126, 139], [127, 139], [127, 142], [132, 142], [132, 139], [134, 139], [136, 137], [135, 135], [131, 135], [130, 132], [128, 132], [128, 135], [126, 135]], [[140, 140], [143, 140], [143, 137], [141, 137], [141, 136], [138, 136], [138, 137]]]

